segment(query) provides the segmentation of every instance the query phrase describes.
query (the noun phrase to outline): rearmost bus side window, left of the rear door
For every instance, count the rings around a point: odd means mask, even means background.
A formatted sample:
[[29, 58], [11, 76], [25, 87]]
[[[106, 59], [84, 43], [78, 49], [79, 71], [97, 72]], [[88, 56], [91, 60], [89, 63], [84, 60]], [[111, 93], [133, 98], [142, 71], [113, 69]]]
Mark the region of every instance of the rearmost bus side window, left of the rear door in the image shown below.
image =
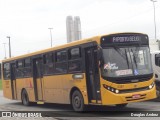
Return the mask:
[[3, 64], [3, 75], [5, 80], [10, 79], [10, 63]]

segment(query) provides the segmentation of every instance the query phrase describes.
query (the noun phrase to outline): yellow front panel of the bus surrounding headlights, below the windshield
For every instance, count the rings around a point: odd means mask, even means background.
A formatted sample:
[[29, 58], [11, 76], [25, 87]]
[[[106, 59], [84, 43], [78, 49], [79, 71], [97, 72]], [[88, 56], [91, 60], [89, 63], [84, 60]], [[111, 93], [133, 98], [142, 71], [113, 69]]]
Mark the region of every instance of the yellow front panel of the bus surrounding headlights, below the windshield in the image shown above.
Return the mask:
[[[115, 83], [111, 83], [111, 82], [108, 82], [106, 80], [101, 79], [101, 85], [106, 84], [106, 85], [109, 85], [109, 86], [116, 88], [118, 90], [127, 90], [127, 89], [134, 90], [135, 85], [136, 85], [136, 88], [149, 87], [149, 85], [151, 85], [153, 82], [154, 82], [154, 78], [150, 79], [149, 81], [139, 82], [139, 83], [115, 84]], [[142, 97], [140, 97], [138, 99], [134, 99], [134, 98], [132, 98], [133, 95], [142, 95]], [[131, 93], [123, 93], [123, 94], [113, 93], [102, 86], [101, 87], [101, 96], [102, 96], [102, 104], [103, 105], [145, 101], [145, 100], [150, 100], [150, 99], [154, 99], [157, 97], [155, 85], [150, 90], [131, 92]]]

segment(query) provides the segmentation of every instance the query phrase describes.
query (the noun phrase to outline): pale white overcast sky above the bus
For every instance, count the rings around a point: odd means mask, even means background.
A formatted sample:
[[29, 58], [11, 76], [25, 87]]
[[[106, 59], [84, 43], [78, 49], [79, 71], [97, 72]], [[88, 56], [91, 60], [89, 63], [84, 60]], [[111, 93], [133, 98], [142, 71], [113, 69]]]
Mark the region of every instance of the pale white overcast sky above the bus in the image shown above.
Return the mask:
[[[160, 39], [160, 1], [155, 3]], [[154, 39], [153, 3], [150, 0], [0, 0], [0, 60], [4, 44], [8, 57], [66, 43], [66, 16], [80, 16], [82, 38], [112, 32], [142, 32]]]

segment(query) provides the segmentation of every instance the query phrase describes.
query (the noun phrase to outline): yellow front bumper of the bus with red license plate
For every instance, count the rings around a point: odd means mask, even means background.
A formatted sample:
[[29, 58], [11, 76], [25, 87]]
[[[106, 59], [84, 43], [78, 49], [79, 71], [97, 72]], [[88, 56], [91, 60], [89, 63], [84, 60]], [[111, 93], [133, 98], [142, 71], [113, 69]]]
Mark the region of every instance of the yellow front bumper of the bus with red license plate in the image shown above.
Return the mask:
[[155, 86], [150, 90], [123, 94], [116, 94], [106, 90], [105, 94], [103, 93], [102, 95], [102, 105], [140, 102], [154, 99], [156, 97], [157, 95]]

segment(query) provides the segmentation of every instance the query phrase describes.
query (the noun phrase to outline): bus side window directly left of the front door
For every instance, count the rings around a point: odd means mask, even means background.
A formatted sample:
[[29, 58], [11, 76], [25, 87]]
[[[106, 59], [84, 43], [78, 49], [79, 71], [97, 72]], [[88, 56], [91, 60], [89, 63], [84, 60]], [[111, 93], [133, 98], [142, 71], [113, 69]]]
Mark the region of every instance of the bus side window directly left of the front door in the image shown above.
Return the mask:
[[82, 61], [80, 48], [71, 48], [69, 50], [68, 72], [80, 72], [82, 70]]

